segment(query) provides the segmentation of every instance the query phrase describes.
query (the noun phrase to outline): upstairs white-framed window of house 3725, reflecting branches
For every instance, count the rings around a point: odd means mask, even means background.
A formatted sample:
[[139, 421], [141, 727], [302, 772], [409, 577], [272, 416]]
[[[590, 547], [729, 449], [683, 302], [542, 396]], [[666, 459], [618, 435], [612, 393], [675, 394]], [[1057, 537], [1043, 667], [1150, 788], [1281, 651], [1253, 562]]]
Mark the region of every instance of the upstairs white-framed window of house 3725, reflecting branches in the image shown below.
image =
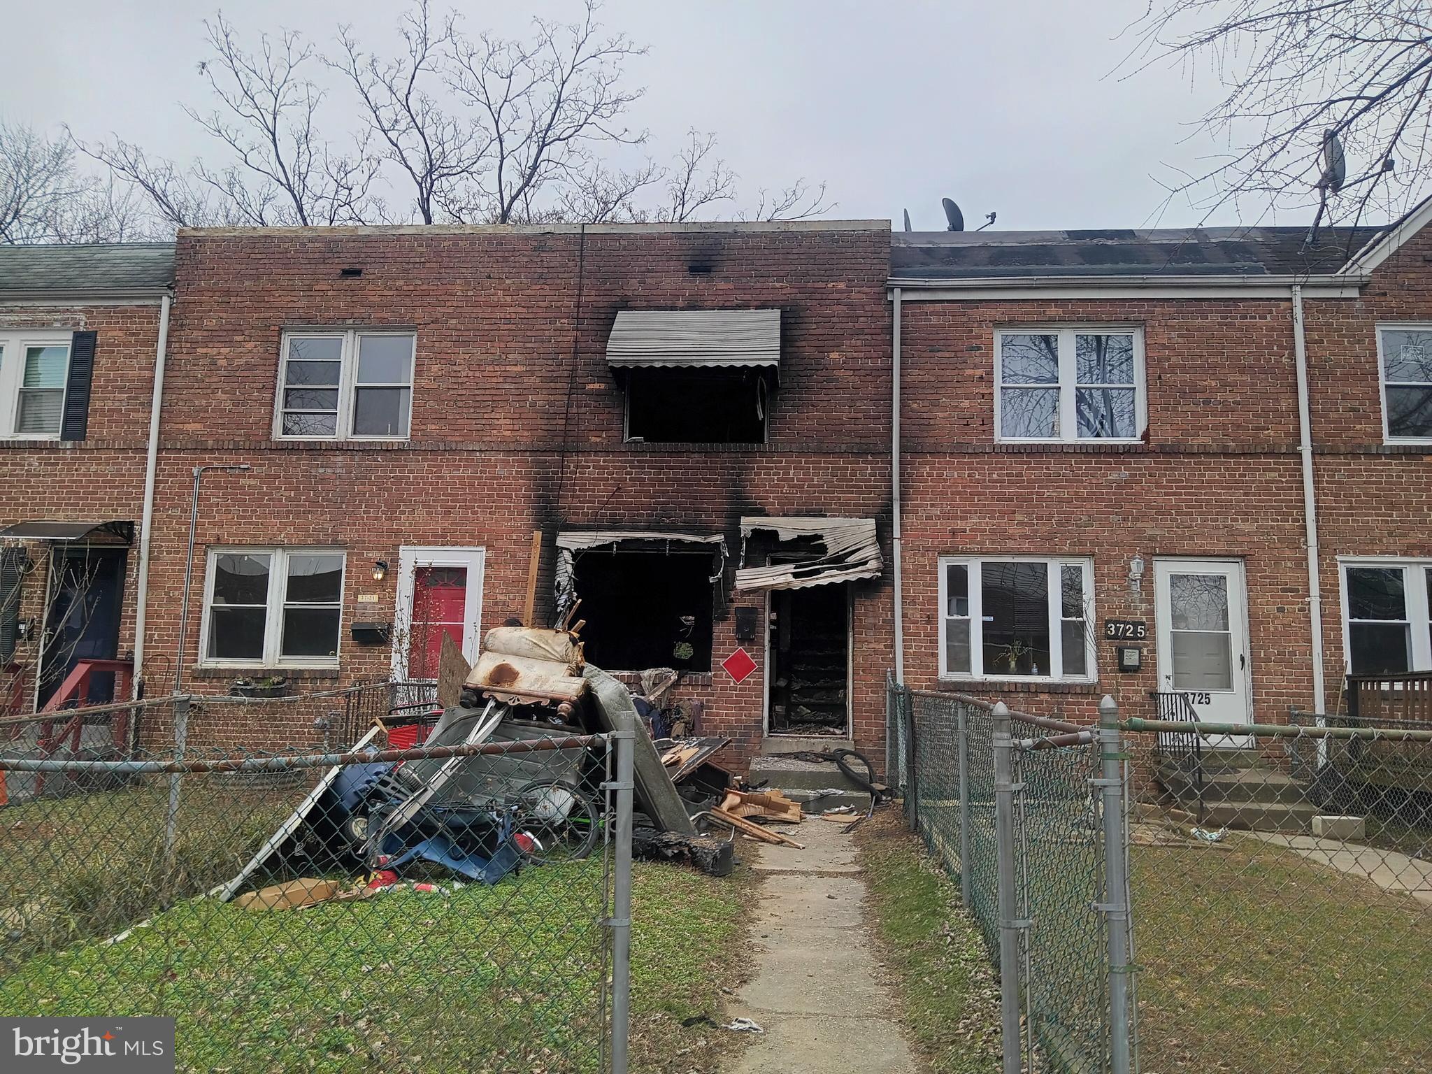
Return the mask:
[[1144, 424], [1144, 347], [1137, 328], [995, 334], [995, 440], [1137, 441]]

